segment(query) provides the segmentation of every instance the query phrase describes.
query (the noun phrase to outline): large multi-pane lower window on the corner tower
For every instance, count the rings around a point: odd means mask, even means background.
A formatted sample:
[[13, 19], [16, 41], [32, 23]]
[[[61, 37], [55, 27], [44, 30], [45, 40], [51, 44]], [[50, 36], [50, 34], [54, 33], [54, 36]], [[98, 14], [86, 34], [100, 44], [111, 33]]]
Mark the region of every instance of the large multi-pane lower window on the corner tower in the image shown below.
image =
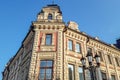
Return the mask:
[[52, 80], [53, 61], [40, 61], [39, 80]]

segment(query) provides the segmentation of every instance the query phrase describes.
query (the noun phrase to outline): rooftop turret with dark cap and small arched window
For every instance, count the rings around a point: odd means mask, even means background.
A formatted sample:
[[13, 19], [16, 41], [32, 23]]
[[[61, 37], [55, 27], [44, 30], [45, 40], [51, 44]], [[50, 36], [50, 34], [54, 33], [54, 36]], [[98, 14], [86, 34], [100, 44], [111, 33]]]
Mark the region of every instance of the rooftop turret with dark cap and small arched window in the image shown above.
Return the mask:
[[56, 4], [43, 7], [38, 14], [37, 21], [41, 22], [62, 22], [62, 12]]

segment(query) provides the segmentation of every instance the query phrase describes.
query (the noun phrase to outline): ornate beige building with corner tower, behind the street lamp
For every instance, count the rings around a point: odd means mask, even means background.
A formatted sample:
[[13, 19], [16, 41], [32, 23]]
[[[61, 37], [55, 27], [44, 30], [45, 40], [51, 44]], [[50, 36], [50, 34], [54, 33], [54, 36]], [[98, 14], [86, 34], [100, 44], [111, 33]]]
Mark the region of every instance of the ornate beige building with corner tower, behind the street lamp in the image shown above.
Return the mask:
[[[103, 80], [120, 80], [120, 49], [81, 32], [73, 21], [66, 25], [60, 7], [47, 5], [7, 63], [3, 80], [83, 80], [80, 59], [88, 51], [100, 55]], [[85, 77], [90, 80], [89, 71]]]

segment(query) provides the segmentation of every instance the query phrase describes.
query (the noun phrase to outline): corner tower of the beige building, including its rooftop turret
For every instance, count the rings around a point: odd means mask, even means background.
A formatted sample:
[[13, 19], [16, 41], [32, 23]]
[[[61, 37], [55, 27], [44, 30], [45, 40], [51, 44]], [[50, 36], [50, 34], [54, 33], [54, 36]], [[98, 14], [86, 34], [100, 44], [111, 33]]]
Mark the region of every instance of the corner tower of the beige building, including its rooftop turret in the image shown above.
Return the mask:
[[33, 22], [35, 32], [29, 68], [30, 80], [63, 80], [63, 30], [58, 5], [43, 7]]

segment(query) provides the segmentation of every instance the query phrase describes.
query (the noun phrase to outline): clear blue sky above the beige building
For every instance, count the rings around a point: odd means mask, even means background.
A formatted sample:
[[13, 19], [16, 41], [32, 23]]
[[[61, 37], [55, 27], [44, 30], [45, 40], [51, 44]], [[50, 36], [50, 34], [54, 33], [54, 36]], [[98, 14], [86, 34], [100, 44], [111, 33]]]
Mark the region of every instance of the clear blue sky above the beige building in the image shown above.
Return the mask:
[[[50, 3], [52, 0], [0, 0], [0, 72], [19, 49], [41, 8]], [[120, 0], [55, 0], [55, 3], [61, 7], [64, 22], [77, 22], [80, 31], [110, 44], [120, 37]]]

